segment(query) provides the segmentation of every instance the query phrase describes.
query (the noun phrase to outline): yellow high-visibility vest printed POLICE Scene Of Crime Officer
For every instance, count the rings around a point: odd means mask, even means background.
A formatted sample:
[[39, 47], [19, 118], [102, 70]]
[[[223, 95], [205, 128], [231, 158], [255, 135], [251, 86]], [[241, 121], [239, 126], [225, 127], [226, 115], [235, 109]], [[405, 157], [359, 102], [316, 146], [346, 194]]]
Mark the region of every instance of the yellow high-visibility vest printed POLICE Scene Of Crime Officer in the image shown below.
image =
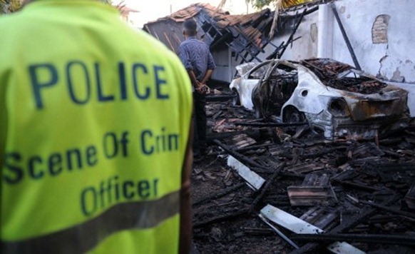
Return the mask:
[[191, 109], [180, 60], [111, 6], [1, 16], [1, 253], [177, 253]]

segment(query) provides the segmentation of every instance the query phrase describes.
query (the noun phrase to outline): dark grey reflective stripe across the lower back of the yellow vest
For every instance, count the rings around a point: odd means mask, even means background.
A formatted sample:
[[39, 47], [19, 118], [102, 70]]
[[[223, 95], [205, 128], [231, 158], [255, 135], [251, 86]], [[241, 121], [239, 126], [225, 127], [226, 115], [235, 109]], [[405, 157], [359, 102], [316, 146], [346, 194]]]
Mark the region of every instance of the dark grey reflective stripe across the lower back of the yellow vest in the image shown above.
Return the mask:
[[[121, 203], [93, 220], [30, 240], [0, 242], [1, 253], [85, 253], [121, 230], [153, 228], [179, 212], [179, 192], [158, 200]], [[74, 239], [73, 235], [77, 235]]]

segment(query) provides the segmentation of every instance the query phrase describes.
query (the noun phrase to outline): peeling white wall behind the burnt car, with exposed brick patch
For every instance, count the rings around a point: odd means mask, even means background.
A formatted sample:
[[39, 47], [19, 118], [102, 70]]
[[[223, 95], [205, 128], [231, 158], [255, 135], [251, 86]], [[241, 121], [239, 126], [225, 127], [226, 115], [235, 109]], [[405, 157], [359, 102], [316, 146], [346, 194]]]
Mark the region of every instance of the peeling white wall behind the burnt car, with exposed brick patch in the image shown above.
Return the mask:
[[[364, 71], [379, 78], [415, 83], [415, 33], [411, 24], [415, 1], [411, 0], [339, 0], [334, 2], [354, 53]], [[299, 9], [301, 13], [302, 9]], [[292, 14], [292, 13], [290, 13]], [[290, 37], [292, 26], [277, 32], [272, 44], [280, 45]], [[300, 60], [313, 57], [331, 58], [354, 66], [347, 44], [329, 4], [304, 16], [294, 39], [282, 59]], [[275, 47], [268, 44], [260, 59]]]

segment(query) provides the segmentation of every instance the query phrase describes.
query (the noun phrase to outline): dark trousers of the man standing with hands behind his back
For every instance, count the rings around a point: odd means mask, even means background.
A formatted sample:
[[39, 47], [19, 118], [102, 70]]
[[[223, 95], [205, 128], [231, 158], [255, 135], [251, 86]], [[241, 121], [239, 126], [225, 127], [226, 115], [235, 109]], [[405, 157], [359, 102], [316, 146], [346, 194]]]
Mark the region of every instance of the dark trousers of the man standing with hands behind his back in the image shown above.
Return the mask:
[[206, 97], [197, 91], [193, 92], [195, 111], [193, 112], [193, 153], [195, 156], [203, 156], [206, 151]]

